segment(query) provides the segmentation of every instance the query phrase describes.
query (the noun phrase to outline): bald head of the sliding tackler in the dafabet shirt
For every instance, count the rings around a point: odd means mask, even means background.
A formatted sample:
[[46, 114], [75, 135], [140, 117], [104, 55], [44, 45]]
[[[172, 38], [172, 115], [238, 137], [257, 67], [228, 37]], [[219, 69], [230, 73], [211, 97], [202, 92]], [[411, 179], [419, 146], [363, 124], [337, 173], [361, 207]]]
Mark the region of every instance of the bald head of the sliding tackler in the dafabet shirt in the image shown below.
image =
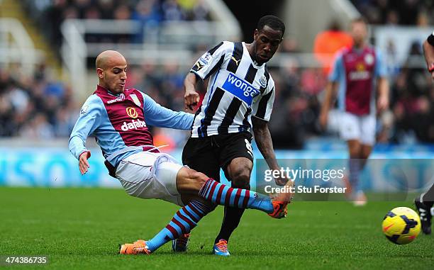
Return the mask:
[[99, 85], [112, 93], [123, 92], [126, 84], [127, 62], [125, 57], [116, 50], [101, 52], [95, 61]]

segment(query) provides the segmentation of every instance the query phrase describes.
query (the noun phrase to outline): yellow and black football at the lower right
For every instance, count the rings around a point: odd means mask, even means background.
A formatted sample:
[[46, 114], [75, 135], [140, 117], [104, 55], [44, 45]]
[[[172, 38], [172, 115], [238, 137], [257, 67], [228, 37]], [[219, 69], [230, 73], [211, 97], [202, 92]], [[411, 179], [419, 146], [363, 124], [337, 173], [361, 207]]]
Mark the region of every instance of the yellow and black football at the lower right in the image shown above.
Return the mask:
[[383, 233], [395, 244], [408, 244], [421, 232], [421, 219], [411, 208], [397, 207], [383, 219]]

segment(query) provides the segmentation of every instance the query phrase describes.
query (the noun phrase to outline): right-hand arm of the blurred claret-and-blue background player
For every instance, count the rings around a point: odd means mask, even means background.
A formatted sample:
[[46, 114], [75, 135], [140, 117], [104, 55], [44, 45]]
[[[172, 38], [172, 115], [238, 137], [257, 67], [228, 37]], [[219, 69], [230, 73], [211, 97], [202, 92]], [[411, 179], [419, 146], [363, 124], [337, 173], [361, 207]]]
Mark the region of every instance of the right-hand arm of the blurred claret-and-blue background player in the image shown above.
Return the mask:
[[377, 76], [377, 110], [379, 112], [389, 108], [389, 79], [387, 79], [387, 67], [384, 64], [382, 53], [377, 51], [377, 61], [375, 62], [375, 75]]

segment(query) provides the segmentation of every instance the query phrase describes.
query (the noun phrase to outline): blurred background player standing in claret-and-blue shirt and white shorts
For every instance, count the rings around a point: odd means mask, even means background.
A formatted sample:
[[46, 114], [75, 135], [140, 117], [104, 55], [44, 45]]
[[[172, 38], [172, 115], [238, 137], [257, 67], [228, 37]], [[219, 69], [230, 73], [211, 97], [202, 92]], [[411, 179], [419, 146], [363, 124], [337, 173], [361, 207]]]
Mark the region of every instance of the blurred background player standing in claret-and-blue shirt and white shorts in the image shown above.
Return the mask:
[[335, 58], [319, 120], [325, 128], [333, 95], [338, 88], [339, 132], [340, 137], [347, 141], [350, 154], [348, 190], [355, 205], [364, 205], [367, 198], [359, 174], [375, 142], [375, 88], [378, 88], [377, 110], [381, 112], [389, 106], [389, 83], [382, 55], [367, 44], [368, 29], [364, 18], [352, 21], [351, 35], [353, 46], [342, 50]]

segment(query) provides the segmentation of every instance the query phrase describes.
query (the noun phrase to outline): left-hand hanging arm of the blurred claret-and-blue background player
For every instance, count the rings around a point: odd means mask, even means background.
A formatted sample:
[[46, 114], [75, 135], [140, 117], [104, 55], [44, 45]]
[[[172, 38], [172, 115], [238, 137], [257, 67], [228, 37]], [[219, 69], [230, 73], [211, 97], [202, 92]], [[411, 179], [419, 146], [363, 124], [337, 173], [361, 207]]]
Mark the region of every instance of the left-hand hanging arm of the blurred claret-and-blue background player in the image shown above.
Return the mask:
[[319, 123], [323, 129], [327, 127], [328, 111], [330, 111], [330, 107], [335, 100], [336, 89], [338, 89], [338, 79], [342, 77], [342, 74], [343, 57], [341, 54], [338, 54], [337, 57], [335, 57], [335, 61], [333, 62], [333, 68], [328, 76], [328, 83], [325, 86], [325, 96], [319, 116]]

